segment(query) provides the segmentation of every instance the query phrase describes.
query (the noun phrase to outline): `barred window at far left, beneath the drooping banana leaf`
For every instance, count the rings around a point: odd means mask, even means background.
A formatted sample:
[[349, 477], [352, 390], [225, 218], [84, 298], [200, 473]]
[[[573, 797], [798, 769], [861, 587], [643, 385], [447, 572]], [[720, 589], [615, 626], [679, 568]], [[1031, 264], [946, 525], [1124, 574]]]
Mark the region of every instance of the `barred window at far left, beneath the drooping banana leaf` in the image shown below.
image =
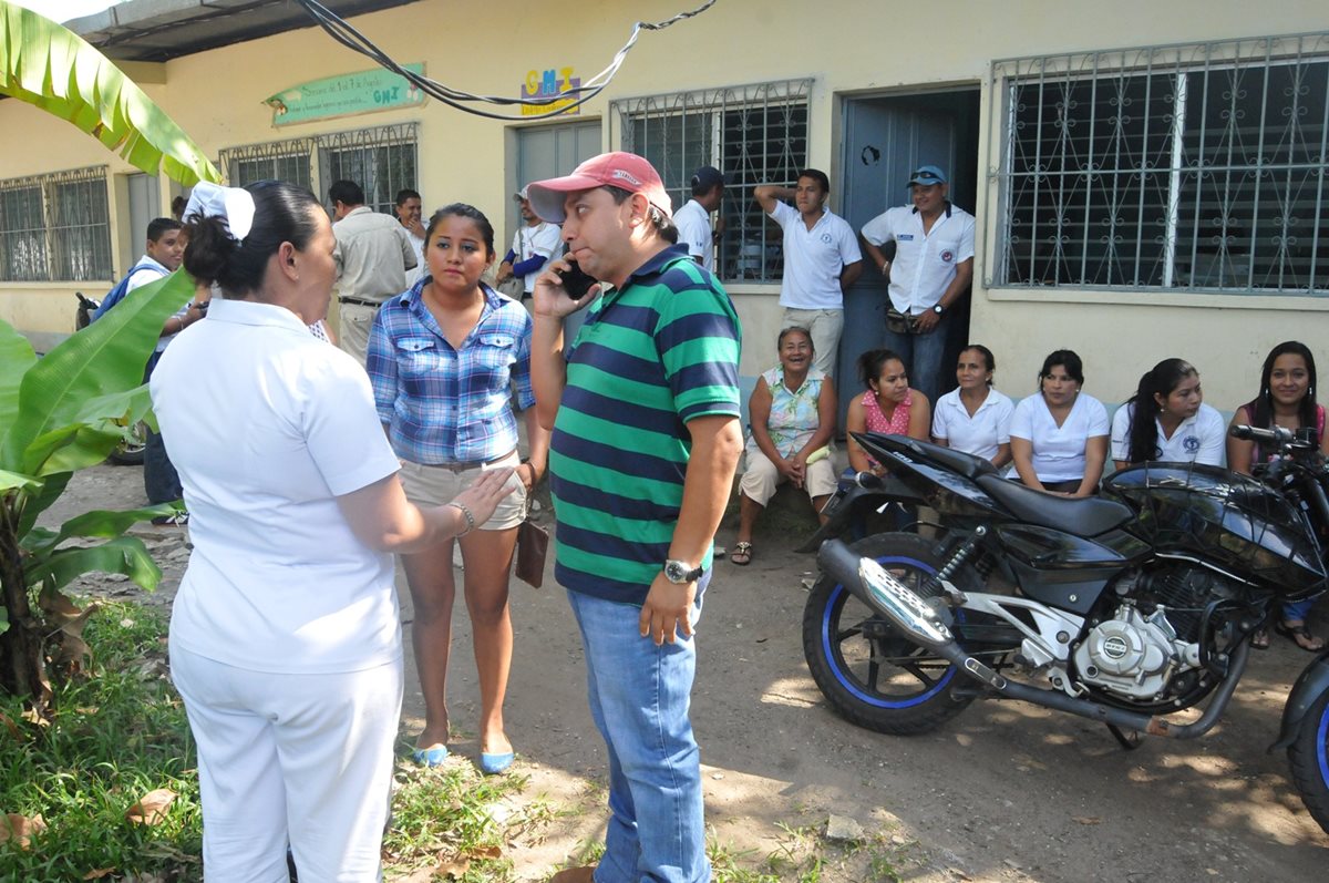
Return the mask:
[[106, 168], [0, 181], [0, 281], [110, 279]]

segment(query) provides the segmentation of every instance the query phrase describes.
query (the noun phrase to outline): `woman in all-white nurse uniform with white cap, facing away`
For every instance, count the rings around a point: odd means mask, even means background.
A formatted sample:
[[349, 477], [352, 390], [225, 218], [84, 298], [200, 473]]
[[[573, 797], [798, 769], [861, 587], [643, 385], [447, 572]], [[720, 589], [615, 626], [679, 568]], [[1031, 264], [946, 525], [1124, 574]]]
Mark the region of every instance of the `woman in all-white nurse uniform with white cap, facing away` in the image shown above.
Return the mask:
[[203, 866], [217, 880], [379, 878], [401, 709], [392, 552], [464, 533], [509, 472], [416, 508], [364, 368], [310, 334], [336, 241], [312, 193], [199, 184], [185, 269], [207, 319], [162, 355], [153, 407], [194, 544], [171, 610], [171, 677], [198, 746]]

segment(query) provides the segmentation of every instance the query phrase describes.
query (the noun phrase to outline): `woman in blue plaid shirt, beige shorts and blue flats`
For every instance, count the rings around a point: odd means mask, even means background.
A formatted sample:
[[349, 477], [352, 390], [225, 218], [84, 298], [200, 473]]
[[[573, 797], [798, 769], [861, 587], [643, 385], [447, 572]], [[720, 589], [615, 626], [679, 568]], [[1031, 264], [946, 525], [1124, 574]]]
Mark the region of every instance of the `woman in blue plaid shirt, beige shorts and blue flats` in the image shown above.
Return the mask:
[[[408, 499], [445, 503], [482, 472], [517, 467], [512, 480], [521, 487], [457, 540], [480, 676], [480, 766], [501, 773], [513, 759], [502, 723], [512, 665], [508, 574], [526, 493], [545, 472], [549, 434], [530, 407], [530, 315], [480, 281], [494, 261], [489, 219], [469, 205], [444, 206], [429, 219], [424, 258], [427, 275], [379, 310], [367, 367], [379, 419], [403, 460]], [[530, 457], [520, 465], [514, 383], [530, 443]], [[415, 759], [436, 766], [448, 757], [452, 541], [401, 560], [415, 602], [412, 642], [425, 702]]]

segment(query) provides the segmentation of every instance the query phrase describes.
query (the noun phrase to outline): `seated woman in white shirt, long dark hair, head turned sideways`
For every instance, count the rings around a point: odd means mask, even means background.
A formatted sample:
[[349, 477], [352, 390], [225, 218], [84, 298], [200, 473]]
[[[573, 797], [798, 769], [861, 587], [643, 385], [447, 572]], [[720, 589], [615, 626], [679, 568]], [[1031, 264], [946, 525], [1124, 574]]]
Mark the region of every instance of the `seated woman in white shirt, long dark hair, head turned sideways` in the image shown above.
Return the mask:
[[1200, 372], [1163, 359], [1112, 416], [1112, 460], [1118, 469], [1148, 460], [1223, 465], [1225, 438], [1223, 415], [1204, 404]]

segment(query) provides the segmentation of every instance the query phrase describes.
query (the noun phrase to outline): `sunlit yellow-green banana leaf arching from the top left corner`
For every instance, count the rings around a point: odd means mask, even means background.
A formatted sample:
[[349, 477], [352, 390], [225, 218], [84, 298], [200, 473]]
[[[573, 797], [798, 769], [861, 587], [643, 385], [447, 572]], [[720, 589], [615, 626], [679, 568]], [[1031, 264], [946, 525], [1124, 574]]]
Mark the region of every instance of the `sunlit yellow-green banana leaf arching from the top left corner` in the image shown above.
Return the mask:
[[133, 80], [68, 28], [0, 0], [0, 92], [68, 120], [133, 166], [185, 186], [221, 181]]

